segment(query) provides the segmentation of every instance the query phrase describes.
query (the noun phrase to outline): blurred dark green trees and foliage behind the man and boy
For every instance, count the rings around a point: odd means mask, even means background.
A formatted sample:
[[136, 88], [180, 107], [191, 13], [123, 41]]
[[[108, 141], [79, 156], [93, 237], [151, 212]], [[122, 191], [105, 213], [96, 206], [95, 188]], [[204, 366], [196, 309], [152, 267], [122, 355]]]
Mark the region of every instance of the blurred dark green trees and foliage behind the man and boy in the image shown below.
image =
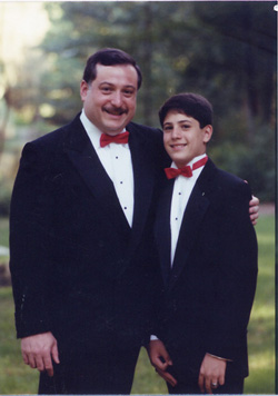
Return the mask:
[[[172, 93], [206, 96], [215, 109], [212, 158], [247, 179], [261, 200], [275, 199], [277, 32], [271, 1], [218, 1], [214, 7], [206, 1], [50, 1], [44, 8], [50, 29], [39, 51], [26, 51], [17, 86], [7, 86], [2, 98], [0, 156], [6, 113], [11, 119], [16, 112], [13, 123], [28, 126], [30, 139], [68, 122], [81, 109], [87, 58], [118, 47], [142, 69], [137, 122], [157, 127], [158, 109]], [[0, 68], [4, 76], [1, 59]], [[7, 195], [0, 201], [7, 208]]]

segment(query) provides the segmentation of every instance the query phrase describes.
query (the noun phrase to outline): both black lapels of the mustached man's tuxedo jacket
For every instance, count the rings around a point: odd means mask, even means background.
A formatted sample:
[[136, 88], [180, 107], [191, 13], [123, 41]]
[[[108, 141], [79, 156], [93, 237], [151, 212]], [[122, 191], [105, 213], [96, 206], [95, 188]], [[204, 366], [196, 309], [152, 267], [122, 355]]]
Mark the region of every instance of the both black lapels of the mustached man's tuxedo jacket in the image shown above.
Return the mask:
[[[128, 130], [130, 132], [129, 147], [135, 180], [131, 229], [120, 206], [113, 184], [102, 167], [79, 117], [70, 126], [69, 141], [64, 150], [91, 194], [98, 199], [100, 210], [107, 217], [107, 221], [113, 222], [120, 234], [126, 232], [127, 237], [130, 238], [127, 251], [127, 257], [130, 257], [141, 239], [149, 216], [156, 180], [150, 156], [145, 154], [145, 140], [140, 138], [140, 133], [138, 133], [133, 123], [128, 126]], [[153, 147], [153, 149], [156, 148]]]

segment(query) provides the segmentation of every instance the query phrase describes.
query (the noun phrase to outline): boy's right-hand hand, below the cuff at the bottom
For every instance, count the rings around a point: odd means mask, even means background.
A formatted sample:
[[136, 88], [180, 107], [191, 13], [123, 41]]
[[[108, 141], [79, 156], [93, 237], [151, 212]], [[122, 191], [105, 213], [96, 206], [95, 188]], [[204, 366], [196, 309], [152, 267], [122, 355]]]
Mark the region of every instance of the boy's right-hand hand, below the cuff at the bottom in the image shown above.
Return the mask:
[[226, 360], [218, 359], [209, 354], [205, 355], [198, 379], [201, 393], [205, 393], [206, 390], [211, 395], [211, 388], [217, 388], [218, 385], [225, 384], [226, 366]]

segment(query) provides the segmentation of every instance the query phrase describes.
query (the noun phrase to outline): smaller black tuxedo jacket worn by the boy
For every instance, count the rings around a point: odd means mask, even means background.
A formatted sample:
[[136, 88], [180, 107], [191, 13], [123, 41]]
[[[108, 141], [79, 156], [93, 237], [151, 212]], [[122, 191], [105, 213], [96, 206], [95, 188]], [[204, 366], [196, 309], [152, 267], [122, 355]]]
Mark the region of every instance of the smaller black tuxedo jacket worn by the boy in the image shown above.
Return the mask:
[[182, 378], [198, 378], [206, 353], [232, 360], [229, 370], [247, 376], [247, 325], [257, 279], [250, 189], [209, 160], [189, 198], [170, 269], [172, 187], [166, 179], [155, 229], [166, 307], [156, 334]]

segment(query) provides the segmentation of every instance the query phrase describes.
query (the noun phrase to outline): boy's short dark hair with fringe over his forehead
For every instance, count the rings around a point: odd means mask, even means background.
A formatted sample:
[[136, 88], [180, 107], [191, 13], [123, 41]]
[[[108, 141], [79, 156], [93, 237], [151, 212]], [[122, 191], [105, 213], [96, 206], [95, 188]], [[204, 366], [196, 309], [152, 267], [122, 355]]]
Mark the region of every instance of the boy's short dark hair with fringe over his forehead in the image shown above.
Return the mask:
[[170, 110], [177, 110], [189, 117], [195, 118], [200, 123], [200, 128], [212, 125], [212, 106], [200, 95], [178, 93], [169, 98], [159, 110], [159, 120], [161, 127], [165, 118]]

